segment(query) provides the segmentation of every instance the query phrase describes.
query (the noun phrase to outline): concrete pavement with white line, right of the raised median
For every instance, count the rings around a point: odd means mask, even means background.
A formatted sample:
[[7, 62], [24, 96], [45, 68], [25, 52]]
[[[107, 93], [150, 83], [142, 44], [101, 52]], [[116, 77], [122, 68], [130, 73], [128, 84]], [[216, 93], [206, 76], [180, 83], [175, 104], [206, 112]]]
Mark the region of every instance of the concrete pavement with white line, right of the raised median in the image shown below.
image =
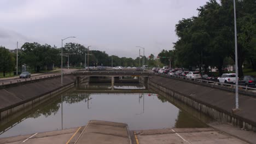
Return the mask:
[[134, 131], [136, 144], [176, 144], [176, 143], [224, 143], [246, 144], [247, 142], [212, 128], [173, 128]]

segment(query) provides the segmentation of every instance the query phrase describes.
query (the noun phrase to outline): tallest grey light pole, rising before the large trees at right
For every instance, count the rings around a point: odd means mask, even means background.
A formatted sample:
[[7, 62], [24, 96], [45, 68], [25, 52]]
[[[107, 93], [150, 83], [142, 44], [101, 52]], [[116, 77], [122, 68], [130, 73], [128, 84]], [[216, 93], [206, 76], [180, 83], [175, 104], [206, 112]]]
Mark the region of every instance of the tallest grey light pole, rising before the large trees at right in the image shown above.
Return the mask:
[[236, 109], [238, 105], [238, 64], [237, 64], [237, 34], [236, 34], [236, 1], [234, 0], [234, 24], [235, 24], [235, 62], [236, 62]]

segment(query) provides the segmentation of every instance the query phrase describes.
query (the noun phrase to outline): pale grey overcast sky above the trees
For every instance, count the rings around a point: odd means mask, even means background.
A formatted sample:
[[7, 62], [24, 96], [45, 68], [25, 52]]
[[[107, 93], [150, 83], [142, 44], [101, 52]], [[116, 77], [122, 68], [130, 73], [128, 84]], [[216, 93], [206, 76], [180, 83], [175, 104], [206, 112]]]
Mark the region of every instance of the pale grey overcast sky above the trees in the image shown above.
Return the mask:
[[[25, 42], [61, 47], [91, 45], [119, 57], [155, 56], [172, 50], [175, 25], [197, 16], [208, 0], [1, 0], [0, 45], [20, 48]], [[141, 49], [143, 53], [143, 49]]]

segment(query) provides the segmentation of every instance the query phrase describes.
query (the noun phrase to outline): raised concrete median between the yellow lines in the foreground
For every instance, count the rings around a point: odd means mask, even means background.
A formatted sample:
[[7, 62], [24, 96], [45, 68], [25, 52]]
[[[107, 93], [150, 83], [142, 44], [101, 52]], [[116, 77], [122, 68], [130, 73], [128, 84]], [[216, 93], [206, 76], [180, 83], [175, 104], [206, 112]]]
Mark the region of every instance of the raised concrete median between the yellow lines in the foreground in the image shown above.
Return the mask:
[[131, 143], [127, 124], [92, 120], [75, 143]]

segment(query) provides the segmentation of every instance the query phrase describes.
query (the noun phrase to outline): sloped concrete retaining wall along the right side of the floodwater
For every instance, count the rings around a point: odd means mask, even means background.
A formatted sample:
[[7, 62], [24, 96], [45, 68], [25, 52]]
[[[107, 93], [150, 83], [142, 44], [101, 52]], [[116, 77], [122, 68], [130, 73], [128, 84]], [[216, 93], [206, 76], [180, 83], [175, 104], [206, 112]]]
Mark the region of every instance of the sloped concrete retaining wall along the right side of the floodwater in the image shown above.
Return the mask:
[[241, 110], [234, 113], [232, 109], [235, 107], [235, 94], [232, 92], [161, 76], [149, 76], [148, 87], [165, 93], [165, 97], [183, 101], [217, 121], [256, 131], [254, 98], [240, 95]]

